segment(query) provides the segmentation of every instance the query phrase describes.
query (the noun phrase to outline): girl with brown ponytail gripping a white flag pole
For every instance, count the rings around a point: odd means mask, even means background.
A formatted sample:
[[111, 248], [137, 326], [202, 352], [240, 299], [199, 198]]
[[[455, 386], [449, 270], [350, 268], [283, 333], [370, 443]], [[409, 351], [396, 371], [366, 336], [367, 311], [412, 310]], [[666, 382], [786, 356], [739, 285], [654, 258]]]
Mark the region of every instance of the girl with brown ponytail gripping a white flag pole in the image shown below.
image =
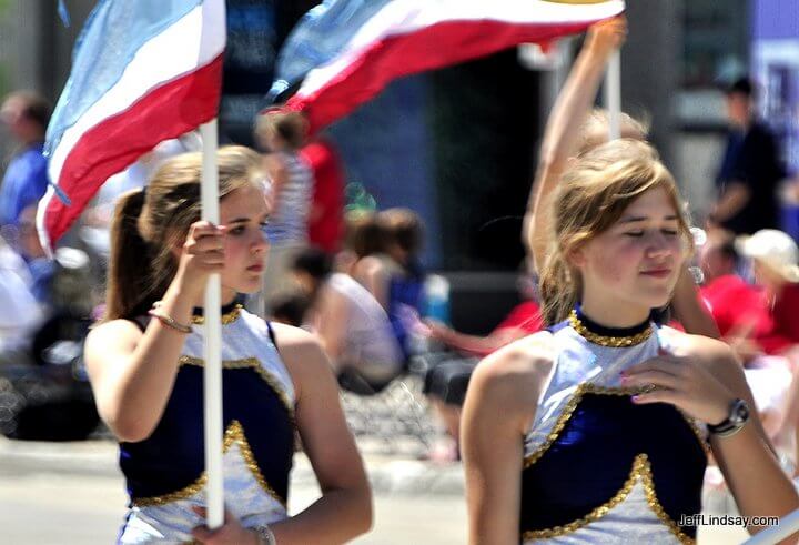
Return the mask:
[[[371, 493], [317, 340], [240, 304], [261, 289], [270, 210], [260, 157], [218, 153], [221, 224], [200, 219], [199, 153], [163, 164], [114, 213], [107, 312], [85, 346], [98, 410], [120, 441], [120, 543], [343, 543]], [[204, 525], [203, 292], [222, 279], [225, 524]], [[289, 517], [299, 433], [323, 491]]]

